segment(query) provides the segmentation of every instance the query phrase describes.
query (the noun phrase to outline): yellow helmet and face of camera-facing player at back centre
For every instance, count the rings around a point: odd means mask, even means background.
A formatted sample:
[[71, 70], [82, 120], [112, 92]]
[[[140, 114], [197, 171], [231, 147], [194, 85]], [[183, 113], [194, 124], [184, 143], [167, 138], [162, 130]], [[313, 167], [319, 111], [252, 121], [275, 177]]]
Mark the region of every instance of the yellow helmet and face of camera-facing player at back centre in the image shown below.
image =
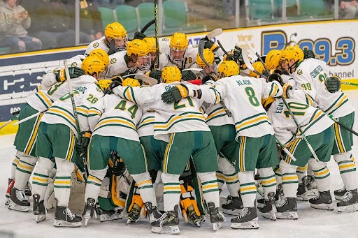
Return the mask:
[[169, 43], [170, 54], [169, 57], [171, 60], [180, 64], [185, 59], [185, 53], [187, 52], [187, 46], [189, 45], [189, 40], [187, 40], [187, 35], [184, 33], [174, 33], [171, 36], [171, 40]]

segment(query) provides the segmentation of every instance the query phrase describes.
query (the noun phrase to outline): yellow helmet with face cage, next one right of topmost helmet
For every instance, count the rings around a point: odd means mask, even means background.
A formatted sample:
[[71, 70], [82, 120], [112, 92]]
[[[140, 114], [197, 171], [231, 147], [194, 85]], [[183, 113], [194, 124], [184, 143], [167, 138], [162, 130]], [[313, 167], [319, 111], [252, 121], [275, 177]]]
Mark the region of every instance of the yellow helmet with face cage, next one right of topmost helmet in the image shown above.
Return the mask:
[[136, 63], [136, 68], [143, 71], [150, 70], [151, 61], [149, 47], [144, 40], [131, 40], [127, 45], [127, 56], [130, 61]]

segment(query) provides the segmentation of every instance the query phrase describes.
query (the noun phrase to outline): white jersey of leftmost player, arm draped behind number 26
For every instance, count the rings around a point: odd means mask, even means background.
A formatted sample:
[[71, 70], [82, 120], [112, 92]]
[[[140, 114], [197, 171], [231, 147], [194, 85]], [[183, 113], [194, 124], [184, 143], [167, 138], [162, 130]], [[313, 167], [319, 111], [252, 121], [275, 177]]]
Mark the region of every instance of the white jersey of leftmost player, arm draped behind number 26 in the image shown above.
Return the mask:
[[[71, 79], [73, 89], [76, 89], [76, 87], [80, 87], [81, 85], [92, 84], [94, 82], [97, 82], [97, 80], [90, 75], [82, 75]], [[67, 94], [69, 91], [70, 88], [67, 81], [57, 82], [48, 90], [38, 90], [36, 94], [32, 94], [27, 97], [25, 101], [35, 110], [38, 110], [38, 112], [45, 112], [45, 110], [48, 110], [48, 108], [52, 106], [54, 101], [64, 96], [64, 94]]]

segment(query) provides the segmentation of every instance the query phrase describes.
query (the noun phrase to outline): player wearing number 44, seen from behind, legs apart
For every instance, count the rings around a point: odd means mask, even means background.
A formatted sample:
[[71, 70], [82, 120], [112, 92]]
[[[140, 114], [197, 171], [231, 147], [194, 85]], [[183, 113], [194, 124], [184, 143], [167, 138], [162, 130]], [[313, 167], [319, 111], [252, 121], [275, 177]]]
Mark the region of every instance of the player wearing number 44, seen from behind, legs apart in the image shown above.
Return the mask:
[[[122, 82], [124, 87], [139, 86], [138, 80], [127, 78]], [[92, 140], [89, 145], [90, 175], [86, 183], [85, 209], [83, 217], [92, 218], [96, 201], [99, 196], [101, 182], [108, 170], [108, 158], [111, 151], [117, 151], [127, 165], [129, 174], [138, 184], [139, 193], [150, 216], [154, 222], [161, 216], [157, 210], [155, 191], [152, 186], [145, 151], [139, 142], [136, 125], [141, 119], [141, 110], [138, 105], [127, 101], [115, 94], [101, 98], [90, 108], [97, 114], [89, 117]], [[119, 130], [120, 129], [120, 130]]]

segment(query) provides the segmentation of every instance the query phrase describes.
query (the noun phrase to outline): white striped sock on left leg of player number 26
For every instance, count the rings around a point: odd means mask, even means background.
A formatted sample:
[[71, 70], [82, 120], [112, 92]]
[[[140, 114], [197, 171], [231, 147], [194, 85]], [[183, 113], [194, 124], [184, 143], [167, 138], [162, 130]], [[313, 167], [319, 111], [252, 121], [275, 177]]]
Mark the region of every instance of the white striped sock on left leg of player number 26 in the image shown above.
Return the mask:
[[32, 193], [40, 195], [40, 200], [44, 200], [48, 186], [48, 177], [55, 163], [49, 158], [38, 157], [38, 162], [32, 177]]

